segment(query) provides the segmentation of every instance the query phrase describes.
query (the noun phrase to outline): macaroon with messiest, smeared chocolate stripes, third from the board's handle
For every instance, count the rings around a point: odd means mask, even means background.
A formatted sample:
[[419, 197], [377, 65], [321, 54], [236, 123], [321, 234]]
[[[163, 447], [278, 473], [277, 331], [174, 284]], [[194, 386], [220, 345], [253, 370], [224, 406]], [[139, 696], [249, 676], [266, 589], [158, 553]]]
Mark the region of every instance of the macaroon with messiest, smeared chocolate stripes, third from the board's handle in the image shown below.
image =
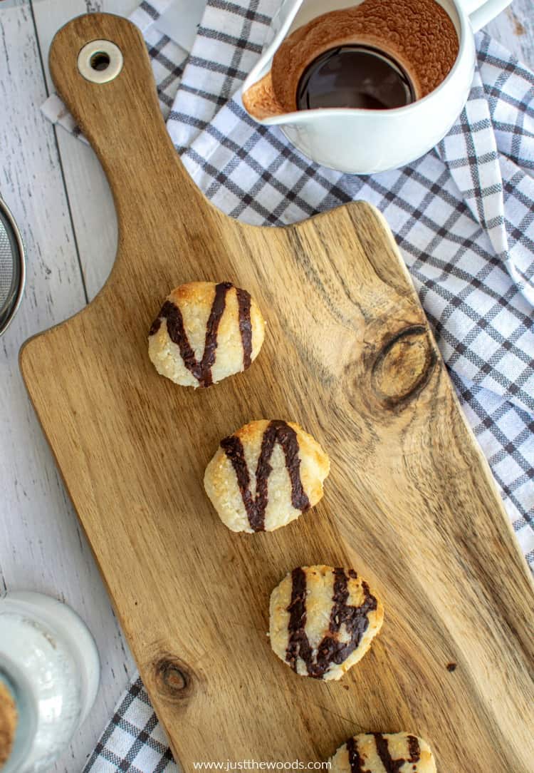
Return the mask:
[[272, 649], [301, 676], [341, 679], [383, 621], [380, 599], [353, 569], [297, 567], [271, 594]]

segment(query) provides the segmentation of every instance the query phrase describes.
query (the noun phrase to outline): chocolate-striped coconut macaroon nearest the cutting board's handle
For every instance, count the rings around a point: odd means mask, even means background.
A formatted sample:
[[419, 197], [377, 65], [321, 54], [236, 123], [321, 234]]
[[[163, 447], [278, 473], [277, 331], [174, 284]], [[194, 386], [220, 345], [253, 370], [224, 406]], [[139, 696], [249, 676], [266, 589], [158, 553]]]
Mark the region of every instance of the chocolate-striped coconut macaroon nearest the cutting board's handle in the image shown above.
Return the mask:
[[148, 336], [161, 376], [181, 386], [211, 386], [247, 369], [259, 355], [265, 320], [254, 298], [230, 282], [181, 284]]

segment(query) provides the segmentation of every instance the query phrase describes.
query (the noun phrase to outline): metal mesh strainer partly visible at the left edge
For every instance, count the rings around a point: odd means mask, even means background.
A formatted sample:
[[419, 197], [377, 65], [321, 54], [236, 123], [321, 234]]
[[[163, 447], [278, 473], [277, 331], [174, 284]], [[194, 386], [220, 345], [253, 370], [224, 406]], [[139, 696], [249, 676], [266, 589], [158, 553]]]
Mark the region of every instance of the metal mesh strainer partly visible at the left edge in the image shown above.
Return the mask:
[[0, 335], [8, 329], [19, 308], [24, 279], [22, 239], [12, 213], [0, 199]]

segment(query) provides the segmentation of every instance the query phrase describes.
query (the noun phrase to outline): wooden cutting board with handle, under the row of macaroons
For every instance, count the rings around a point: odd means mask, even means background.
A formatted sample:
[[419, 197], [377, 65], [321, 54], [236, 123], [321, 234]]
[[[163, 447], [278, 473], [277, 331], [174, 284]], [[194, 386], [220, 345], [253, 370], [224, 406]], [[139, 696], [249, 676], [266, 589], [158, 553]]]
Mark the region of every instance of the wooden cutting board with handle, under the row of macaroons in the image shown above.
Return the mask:
[[[94, 39], [123, 52], [110, 83], [77, 70]], [[275, 229], [218, 212], [124, 19], [70, 22], [51, 70], [106, 170], [120, 243], [100, 295], [26, 343], [22, 372], [184, 770], [321, 760], [354, 733], [410, 730], [440, 773], [532, 773], [532, 580], [380, 214], [354, 203]], [[194, 391], [157, 376], [147, 331], [167, 292], [198, 279], [251, 291], [268, 334], [246, 373]], [[204, 467], [262, 417], [302, 424], [332, 472], [295, 523], [235, 534]], [[296, 676], [265, 635], [272, 587], [315, 563], [355, 567], [386, 607], [340, 683]]]

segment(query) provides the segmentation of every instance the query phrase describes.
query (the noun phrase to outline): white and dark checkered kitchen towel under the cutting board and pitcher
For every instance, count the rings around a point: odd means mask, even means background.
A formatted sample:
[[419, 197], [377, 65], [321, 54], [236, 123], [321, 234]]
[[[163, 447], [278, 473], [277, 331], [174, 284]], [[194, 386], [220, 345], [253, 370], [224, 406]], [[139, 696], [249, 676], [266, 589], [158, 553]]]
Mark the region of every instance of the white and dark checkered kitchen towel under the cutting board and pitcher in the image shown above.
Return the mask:
[[[206, 196], [248, 223], [294, 223], [353, 199], [384, 213], [534, 566], [534, 74], [480, 33], [471, 96], [438, 148], [395, 172], [332, 172], [242, 109], [278, 4], [208, 0], [188, 56], [161, 32], [169, 0], [134, 12], [177, 152]], [[175, 770], [139, 680], [86, 767], [118, 770]]]

